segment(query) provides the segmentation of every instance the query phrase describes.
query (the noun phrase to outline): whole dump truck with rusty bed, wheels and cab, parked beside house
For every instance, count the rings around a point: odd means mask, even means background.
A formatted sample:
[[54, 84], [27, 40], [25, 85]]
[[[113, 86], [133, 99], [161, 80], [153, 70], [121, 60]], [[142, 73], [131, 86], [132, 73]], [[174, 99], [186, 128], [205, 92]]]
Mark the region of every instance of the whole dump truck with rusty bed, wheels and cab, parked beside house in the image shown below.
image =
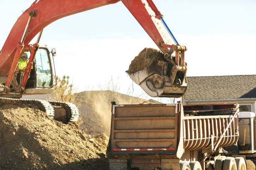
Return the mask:
[[235, 103], [112, 102], [110, 170], [246, 170], [256, 156], [254, 117]]

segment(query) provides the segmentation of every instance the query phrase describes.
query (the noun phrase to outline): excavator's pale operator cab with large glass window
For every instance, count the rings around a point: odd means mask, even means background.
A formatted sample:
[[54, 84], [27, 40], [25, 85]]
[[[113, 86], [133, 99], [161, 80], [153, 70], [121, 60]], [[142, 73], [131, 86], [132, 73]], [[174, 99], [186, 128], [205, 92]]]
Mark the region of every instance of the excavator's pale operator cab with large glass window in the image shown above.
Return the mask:
[[[56, 54], [55, 50], [52, 54]], [[40, 45], [36, 51], [24, 94], [48, 94], [53, 92], [55, 84], [56, 76], [53, 57], [51, 57], [48, 47]]]

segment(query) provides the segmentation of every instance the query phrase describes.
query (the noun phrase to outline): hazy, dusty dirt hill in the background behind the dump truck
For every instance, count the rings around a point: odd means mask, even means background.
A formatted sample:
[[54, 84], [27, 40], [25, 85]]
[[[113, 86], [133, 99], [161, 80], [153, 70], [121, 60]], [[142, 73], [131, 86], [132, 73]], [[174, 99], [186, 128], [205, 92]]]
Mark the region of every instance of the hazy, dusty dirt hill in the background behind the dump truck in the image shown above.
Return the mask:
[[159, 103], [155, 100], [149, 101], [110, 90], [84, 91], [78, 93], [78, 96], [82, 99], [79, 108], [81, 117], [79, 129], [90, 135], [99, 133], [110, 135], [112, 101], [117, 104]]

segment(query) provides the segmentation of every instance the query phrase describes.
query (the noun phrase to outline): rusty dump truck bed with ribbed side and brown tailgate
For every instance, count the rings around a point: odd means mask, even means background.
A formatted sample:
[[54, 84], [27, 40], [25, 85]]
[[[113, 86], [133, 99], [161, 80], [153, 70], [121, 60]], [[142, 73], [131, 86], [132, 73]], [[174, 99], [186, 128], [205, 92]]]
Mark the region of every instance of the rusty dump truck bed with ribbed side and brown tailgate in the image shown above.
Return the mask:
[[[178, 150], [213, 148], [237, 109], [236, 104], [113, 103], [107, 154], [175, 155]], [[231, 122], [218, 147], [234, 145], [237, 141], [238, 116]]]

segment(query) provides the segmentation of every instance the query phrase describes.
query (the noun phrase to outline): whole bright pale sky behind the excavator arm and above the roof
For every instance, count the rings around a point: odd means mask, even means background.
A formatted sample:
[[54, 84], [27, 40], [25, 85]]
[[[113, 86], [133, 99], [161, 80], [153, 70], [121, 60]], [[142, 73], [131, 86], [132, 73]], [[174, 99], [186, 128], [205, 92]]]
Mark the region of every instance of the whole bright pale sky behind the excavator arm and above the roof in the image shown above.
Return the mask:
[[[0, 48], [33, 1], [0, 0]], [[154, 2], [179, 44], [188, 48], [187, 76], [256, 74], [255, 0]], [[69, 75], [77, 92], [99, 90], [113, 77], [120, 92], [147, 97], [125, 71], [144, 47], [157, 46], [122, 2], [51, 23], [40, 44], [56, 49], [56, 75]]]

